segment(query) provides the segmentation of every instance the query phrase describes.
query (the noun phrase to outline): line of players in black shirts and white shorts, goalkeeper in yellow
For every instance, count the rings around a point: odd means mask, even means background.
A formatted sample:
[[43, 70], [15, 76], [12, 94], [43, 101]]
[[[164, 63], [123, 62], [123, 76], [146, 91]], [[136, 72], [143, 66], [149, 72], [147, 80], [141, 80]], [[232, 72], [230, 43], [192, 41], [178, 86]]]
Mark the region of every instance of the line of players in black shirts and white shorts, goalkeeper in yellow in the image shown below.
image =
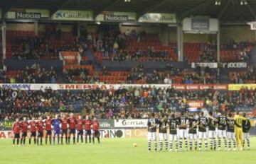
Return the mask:
[[[168, 118], [167, 118], [168, 117]], [[230, 151], [233, 144], [233, 150], [243, 150], [245, 141], [247, 149], [250, 149], [250, 119], [245, 117], [245, 113], [237, 113], [234, 117], [232, 113], [228, 115], [218, 115], [213, 117], [209, 112], [205, 117], [203, 112], [199, 116], [195, 114], [183, 113], [179, 116], [171, 114], [170, 116], [162, 115], [156, 118], [154, 113], [148, 119], [148, 151], [151, 151], [151, 141], [154, 141], [154, 150], [157, 151], [156, 128], [159, 127], [159, 148], [173, 151], [182, 151], [183, 141], [185, 151], [188, 151], [188, 141], [190, 150], [202, 151], [208, 150], [208, 140], [210, 150], [220, 151], [221, 139], [223, 139], [225, 151]], [[169, 143], [167, 139], [167, 130], [169, 129]], [[243, 136], [243, 137], [242, 137]], [[218, 148], [217, 148], [218, 139]]]

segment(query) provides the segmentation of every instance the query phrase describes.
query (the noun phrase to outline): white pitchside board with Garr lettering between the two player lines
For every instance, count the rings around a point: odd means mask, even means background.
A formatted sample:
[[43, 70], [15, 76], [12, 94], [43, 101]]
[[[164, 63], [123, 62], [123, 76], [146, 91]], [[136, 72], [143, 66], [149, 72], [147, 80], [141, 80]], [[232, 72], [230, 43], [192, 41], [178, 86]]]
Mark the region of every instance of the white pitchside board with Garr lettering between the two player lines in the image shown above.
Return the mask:
[[147, 127], [147, 119], [114, 119], [115, 128]]

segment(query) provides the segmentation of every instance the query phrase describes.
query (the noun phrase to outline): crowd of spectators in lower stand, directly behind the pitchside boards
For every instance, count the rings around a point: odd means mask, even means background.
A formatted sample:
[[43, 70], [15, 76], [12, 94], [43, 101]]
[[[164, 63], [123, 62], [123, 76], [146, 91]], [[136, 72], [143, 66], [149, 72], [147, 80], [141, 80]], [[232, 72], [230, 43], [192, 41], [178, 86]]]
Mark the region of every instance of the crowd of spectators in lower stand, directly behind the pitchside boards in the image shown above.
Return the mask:
[[181, 91], [174, 88], [129, 87], [88, 90], [12, 90], [0, 88], [1, 117], [38, 112], [81, 112], [99, 118], [142, 118], [149, 111], [186, 111], [189, 100], [202, 100], [204, 108], [234, 111], [253, 107], [256, 89], [239, 91]]

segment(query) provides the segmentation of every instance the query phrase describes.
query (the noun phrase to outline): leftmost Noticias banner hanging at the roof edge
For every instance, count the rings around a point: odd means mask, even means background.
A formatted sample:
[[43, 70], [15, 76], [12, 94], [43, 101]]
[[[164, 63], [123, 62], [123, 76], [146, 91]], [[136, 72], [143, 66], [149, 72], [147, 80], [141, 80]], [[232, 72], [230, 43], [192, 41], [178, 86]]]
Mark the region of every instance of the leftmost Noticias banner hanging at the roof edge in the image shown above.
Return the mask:
[[7, 19], [40, 19], [48, 18], [50, 13], [48, 10], [41, 9], [11, 9], [6, 14]]

